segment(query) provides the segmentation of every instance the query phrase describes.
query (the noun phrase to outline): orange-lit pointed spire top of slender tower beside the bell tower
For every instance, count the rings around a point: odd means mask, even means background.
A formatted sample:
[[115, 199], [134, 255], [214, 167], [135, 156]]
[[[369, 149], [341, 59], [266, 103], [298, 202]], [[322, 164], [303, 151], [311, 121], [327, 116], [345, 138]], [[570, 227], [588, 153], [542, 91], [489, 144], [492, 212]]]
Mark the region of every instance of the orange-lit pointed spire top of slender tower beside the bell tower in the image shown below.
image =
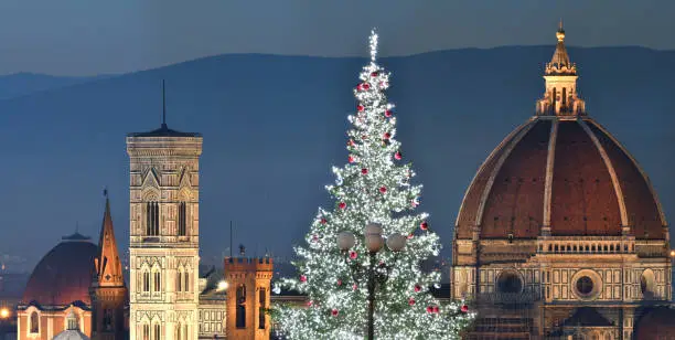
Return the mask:
[[100, 227], [100, 238], [98, 241], [98, 257], [95, 259], [98, 285], [104, 287], [125, 286], [122, 276], [121, 261], [117, 251], [115, 240], [115, 227], [110, 215], [110, 200], [106, 194], [106, 211], [104, 213], [103, 225]]

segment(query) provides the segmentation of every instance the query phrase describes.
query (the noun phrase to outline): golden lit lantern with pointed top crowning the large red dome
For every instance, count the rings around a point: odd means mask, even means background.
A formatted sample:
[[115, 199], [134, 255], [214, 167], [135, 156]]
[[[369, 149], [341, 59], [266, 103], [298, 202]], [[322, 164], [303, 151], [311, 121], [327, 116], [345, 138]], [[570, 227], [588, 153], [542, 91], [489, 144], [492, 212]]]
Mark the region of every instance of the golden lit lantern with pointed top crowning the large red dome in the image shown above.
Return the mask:
[[544, 79], [546, 93], [537, 100], [536, 114], [539, 116], [586, 115], [586, 103], [577, 94], [577, 65], [571, 63], [565, 49], [565, 30], [562, 21], [556, 32], [558, 44], [556, 52], [546, 64]]

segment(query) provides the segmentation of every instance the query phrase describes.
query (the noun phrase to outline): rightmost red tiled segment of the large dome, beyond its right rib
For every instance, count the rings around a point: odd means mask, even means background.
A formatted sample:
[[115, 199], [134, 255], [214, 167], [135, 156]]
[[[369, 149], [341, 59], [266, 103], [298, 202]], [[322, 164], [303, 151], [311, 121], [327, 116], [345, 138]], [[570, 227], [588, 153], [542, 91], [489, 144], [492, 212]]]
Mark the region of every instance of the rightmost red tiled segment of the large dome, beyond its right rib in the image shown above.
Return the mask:
[[663, 240], [666, 221], [649, 178], [638, 162], [598, 123], [587, 120], [587, 126], [609, 157], [621, 187], [628, 224], [636, 238]]

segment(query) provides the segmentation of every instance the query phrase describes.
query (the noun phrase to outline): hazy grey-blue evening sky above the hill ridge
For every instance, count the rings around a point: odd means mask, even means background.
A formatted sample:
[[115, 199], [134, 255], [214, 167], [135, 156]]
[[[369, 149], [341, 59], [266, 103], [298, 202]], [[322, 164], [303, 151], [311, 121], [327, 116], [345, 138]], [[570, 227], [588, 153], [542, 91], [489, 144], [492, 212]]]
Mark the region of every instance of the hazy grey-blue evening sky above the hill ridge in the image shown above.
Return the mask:
[[385, 55], [550, 44], [675, 49], [672, 0], [0, 1], [0, 74], [125, 73], [223, 53]]

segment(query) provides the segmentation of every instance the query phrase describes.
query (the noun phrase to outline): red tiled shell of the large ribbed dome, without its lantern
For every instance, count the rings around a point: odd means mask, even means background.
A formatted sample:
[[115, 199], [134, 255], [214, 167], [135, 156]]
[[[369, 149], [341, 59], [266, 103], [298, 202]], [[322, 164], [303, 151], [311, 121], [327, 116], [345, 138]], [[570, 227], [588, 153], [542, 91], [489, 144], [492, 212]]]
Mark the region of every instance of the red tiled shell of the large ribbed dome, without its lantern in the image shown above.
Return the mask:
[[[547, 176], [547, 173], [549, 176]], [[547, 182], [548, 181], [548, 182]], [[457, 238], [621, 235], [663, 240], [666, 221], [649, 178], [588, 117], [536, 116], [481, 166], [460, 208]]]

